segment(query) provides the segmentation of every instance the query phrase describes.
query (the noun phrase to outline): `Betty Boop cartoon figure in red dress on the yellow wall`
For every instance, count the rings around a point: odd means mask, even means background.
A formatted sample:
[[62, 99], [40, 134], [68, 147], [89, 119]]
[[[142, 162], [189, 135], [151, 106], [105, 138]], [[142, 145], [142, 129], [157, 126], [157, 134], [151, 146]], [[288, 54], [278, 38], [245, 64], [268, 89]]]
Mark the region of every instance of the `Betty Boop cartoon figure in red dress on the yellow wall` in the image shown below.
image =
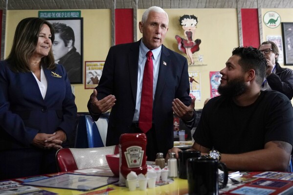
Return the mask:
[[[178, 49], [187, 55], [189, 65], [195, 65], [193, 54], [200, 50], [200, 44], [202, 43], [200, 39], [195, 39], [198, 18], [194, 15], [183, 15], [180, 17], [179, 22], [184, 30], [184, 37], [175, 36]], [[199, 56], [196, 60], [202, 62], [202, 56]]]

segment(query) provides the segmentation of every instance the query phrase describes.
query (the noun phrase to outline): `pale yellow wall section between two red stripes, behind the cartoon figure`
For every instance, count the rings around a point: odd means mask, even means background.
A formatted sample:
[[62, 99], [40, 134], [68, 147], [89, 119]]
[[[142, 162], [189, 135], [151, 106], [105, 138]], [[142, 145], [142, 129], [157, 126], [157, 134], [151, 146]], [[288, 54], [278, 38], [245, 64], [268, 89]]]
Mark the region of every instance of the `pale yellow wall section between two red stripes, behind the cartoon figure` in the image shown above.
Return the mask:
[[[137, 21], [145, 10], [137, 10]], [[189, 66], [188, 71], [201, 72], [201, 102], [195, 108], [203, 108], [203, 102], [210, 97], [210, 71], [220, 71], [232, 54], [232, 49], [239, 46], [238, 21], [236, 9], [165, 9], [169, 16], [169, 30], [164, 45], [182, 54], [178, 49], [176, 35], [184, 37], [180, 25], [180, 16], [195, 15], [198, 18], [195, 39], [201, 39], [200, 50], [193, 56], [203, 55], [204, 65]], [[137, 25], [137, 40], [142, 37]]]

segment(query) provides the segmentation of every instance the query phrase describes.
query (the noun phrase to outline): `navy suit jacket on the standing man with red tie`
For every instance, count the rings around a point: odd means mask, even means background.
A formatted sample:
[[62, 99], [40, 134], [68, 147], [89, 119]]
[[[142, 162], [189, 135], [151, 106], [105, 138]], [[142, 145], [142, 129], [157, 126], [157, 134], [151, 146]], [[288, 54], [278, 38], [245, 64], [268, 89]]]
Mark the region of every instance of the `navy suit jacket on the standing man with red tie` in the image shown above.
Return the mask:
[[[116, 98], [107, 132], [106, 145], [119, 144], [122, 133], [132, 133], [130, 127], [135, 113], [138, 53], [140, 41], [112, 46], [109, 50], [97, 89], [97, 99], [109, 94]], [[166, 154], [173, 147], [172, 101], [179, 98], [186, 106], [191, 104], [189, 96], [188, 64], [185, 57], [162, 45], [158, 82], [153, 103], [153, 123], [160, 152]], [[94, 115], [94, 120], [99, 115]]]

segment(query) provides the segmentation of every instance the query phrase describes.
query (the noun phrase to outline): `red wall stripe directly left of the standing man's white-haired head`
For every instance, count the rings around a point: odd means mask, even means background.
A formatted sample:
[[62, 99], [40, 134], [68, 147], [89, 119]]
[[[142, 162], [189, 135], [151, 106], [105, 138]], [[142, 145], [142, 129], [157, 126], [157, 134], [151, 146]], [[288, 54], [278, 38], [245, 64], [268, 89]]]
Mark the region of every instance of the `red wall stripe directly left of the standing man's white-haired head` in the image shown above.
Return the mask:
[[133, 9], [115, 9], [115, 44], [133, 43]]

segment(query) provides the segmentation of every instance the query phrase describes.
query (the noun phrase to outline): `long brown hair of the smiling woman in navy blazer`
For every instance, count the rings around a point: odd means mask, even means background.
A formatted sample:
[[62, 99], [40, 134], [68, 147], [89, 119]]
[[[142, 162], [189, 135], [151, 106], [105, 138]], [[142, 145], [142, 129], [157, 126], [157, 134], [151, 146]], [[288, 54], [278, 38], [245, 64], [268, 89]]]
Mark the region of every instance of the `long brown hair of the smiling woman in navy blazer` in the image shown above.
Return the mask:
[[[18, 23], [13, 44], [10, 54], [6, 60], [10, 63], [11, 69], [15, 72], [29, 72], [30, 71], [30, 58], [34, 54], [38, 40], [39, 33], [42, 30], [43, 25], [46, 24], [51, 31], [51, 41], [55, 39], [54, 28], [50, 22], [47, 22], [42, 18], [25, 18]], [[45, 65], [48, 69], [54, 69], [55, 60], [52, 52], [52, 48], [49, 54], [42, 58], [41, 64]]]

